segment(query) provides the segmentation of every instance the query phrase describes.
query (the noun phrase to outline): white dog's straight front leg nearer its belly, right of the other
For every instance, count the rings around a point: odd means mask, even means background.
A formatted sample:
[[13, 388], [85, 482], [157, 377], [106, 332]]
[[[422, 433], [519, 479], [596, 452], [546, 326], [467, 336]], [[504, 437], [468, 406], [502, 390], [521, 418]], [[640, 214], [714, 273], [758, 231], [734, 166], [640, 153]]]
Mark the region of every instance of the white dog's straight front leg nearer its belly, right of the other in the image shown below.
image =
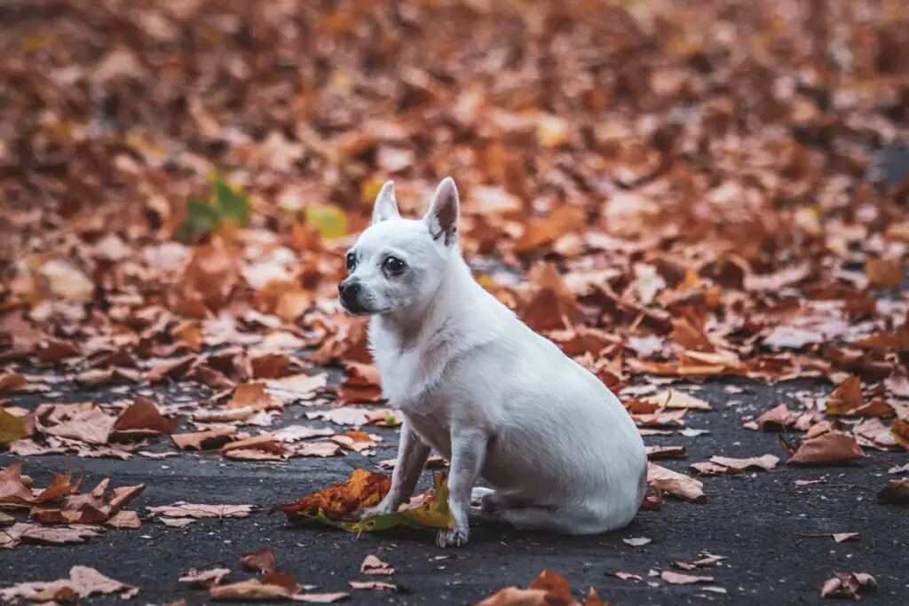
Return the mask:
[[483, 469], [488, 436], [474, 428], [452, 427], [451, 472], [448, 475], [448, 506], [454, 518], [454, 528], [439, 531], [435, 539], [439, 547], [460, 547], [467, 542], [470, 527], [470, 492]]

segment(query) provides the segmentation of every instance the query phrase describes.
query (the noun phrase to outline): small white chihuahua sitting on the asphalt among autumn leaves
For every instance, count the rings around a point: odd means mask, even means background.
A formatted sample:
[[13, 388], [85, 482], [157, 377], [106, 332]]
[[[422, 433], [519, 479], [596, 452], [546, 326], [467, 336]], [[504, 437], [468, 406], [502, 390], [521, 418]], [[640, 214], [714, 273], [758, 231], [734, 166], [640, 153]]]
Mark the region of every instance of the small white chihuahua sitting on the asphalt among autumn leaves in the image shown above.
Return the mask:
[[[640, 433], [594, 374], [474, 281], [458, 214], [451, 177], [422, 220], [401, 218], [389, 181], [347, 253], [341, 303], [371, 316], [383, 393], [404, 417], [391, 490], [364, 517], [409, 499], [435, 448], [454, 517], [440, 547], [466, 543], [471, 514], [565, 534], [624, 527], [646, 489]], [[481, 477], [494, 489], [474, 488]]]

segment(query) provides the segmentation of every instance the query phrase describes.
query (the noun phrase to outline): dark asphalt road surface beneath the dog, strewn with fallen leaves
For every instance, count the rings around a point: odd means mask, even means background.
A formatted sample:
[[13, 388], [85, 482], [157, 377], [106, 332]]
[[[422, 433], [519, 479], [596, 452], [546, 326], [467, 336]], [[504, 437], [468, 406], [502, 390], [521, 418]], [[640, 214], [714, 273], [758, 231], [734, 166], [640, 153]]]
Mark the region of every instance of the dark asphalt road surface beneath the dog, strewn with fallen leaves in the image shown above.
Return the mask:
[[[784, 452], [773, 433], [741, 427], [744, 414], [790, 401], [787, 394], [818, 384], [787, 382], [776, 386], [740, 382], [744, 393], [730, 395], [724, 383], [704, 385], [698, 394], [714, 405], [712, 412], [689, 413], [689, 425], [710, 433], [648, 437], [648, 444], [684, 445], [686, 460], [661, 462], [682, 472], [688, 463], [712, 455], [733, 457]], [[110, 392], [72, 392], [68, 401], [124, 397]], [[166, 394], [162, 394], [166, 399]], [[35, 396], [14, 403], [35, 402]], [[731, 401], [740, 403], [733, 403]], [[293, 406], [279, 424], [298, 422], [306, 409]], [[318, 424], [318, 423], [316, 423]], [[75, 564], [95, 567], [119, 581], [138, 586], [136, 604], [164, 604], [184, 599], [210, 602], [206, 591], [191, 590], [177, 581], [190, 569], [224, 566], [233, 572], [227, 581], [254, 575], [242, 571], [242, 554], [269, 546], [282, 570], [295, 574], [317, 591], [348, 591], [347, 581], [369, 580], [359, 574], [372, 553], [392, 564], [396, 572], [383, 581], [405, 588], [399, 594], [354, 591], [355, 604], [472, 604], [505, 585], [524, 586], [545, 568], [559, 571], [580, 593], [589, 587], [611, 604], [794, 604], [820, 603], [821, 586], [834, 571], [864, 571], [874, 575], [878, 591], [865, 603], [905, 603], [909, 595], [909, 516], [904, 508], [879, 502], [876, 492], [888, 477], [883, 460], [909, 461], [905, 453], [875, 454], [876, 459], [838, 467], [796, 468], [781, 465], [772, 472], [703, 478], [707, 502], [667, 500], [663, 511], [640, 512], [624, 531], [598, 537], [568, 538], [519, 532], [499, 525], [477, 525], [470, 543], [460, 550], [435, 547], [433, 531], [402, 530], [365, 534], [357, 539], [325, 527], [295, 529], [284, 516], [267, 515], [278, 502], [291, 502], [347, 477], [352, 468], [375, 469], [395, 456], [394, 430], [384, 435], [375, 456], [348, 454], [332, 459], [294, 459], [286, 463], [230, 462], [220, 454], [182, 453], [165, 460], [135, 457], [130, 461], [43, 456], [25, 459], [25, 472], [41, 485], [48, 471], [72, 464], [85, 469], [86, 484], [111, 477], [113, 485], [146, 484], [130, 506], [143, 516], [145, 507], [177, 501], [195, 503], [252, 503], [258, 509], [245, 519], [200, 520], [185, 529], [145, 522], [134, 531], [108, 531], [83, 544], [21, 545], [0, 551], [0, 584], [52, 581], [65, 578]], [[155, 449], [172, 450], [161, 442]], [[0, 464], [13, 460], [0, 456]], [[429, 472], [424, 483], [428, 484]], [[796, 486], [795, 480], [824, 482]], [[798, 533], [859, 532], [857, 540], [836, 543], [830, 537]], [[630, 537], [652, 541], [634, 547]], [[723, 555], [721, 565], [694, 571], [714, 576], [727, 593], [697, 586], [670, 586], [650, 571], [672, 570], [669, 561], [693, 561], [701, 552]], [[438, 559], [439, 556], [446, 558]], [[631, 572], [644, 581], [623, 581], [615, 572]], [[646, 581], [659, 582], [649, 586]], [[119, 601], [99, 597], [91, 603]], [[825, 601], [825, 600], [824, 600]]]

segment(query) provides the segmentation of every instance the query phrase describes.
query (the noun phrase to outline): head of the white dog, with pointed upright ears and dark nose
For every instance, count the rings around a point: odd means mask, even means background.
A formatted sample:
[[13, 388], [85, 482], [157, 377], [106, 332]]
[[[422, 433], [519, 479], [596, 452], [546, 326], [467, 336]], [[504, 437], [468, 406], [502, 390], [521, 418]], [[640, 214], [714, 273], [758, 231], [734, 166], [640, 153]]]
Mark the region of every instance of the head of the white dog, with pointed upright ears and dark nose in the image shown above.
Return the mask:
[[355, 315], [423, 306], [438, 290], [458, 248], [458, 193], [446, 177], [423, 219], [398, 212], [395, 184], [375, 198], [373, 222], [347, 253], [347, 279], [338, 286], [341, 304]]

